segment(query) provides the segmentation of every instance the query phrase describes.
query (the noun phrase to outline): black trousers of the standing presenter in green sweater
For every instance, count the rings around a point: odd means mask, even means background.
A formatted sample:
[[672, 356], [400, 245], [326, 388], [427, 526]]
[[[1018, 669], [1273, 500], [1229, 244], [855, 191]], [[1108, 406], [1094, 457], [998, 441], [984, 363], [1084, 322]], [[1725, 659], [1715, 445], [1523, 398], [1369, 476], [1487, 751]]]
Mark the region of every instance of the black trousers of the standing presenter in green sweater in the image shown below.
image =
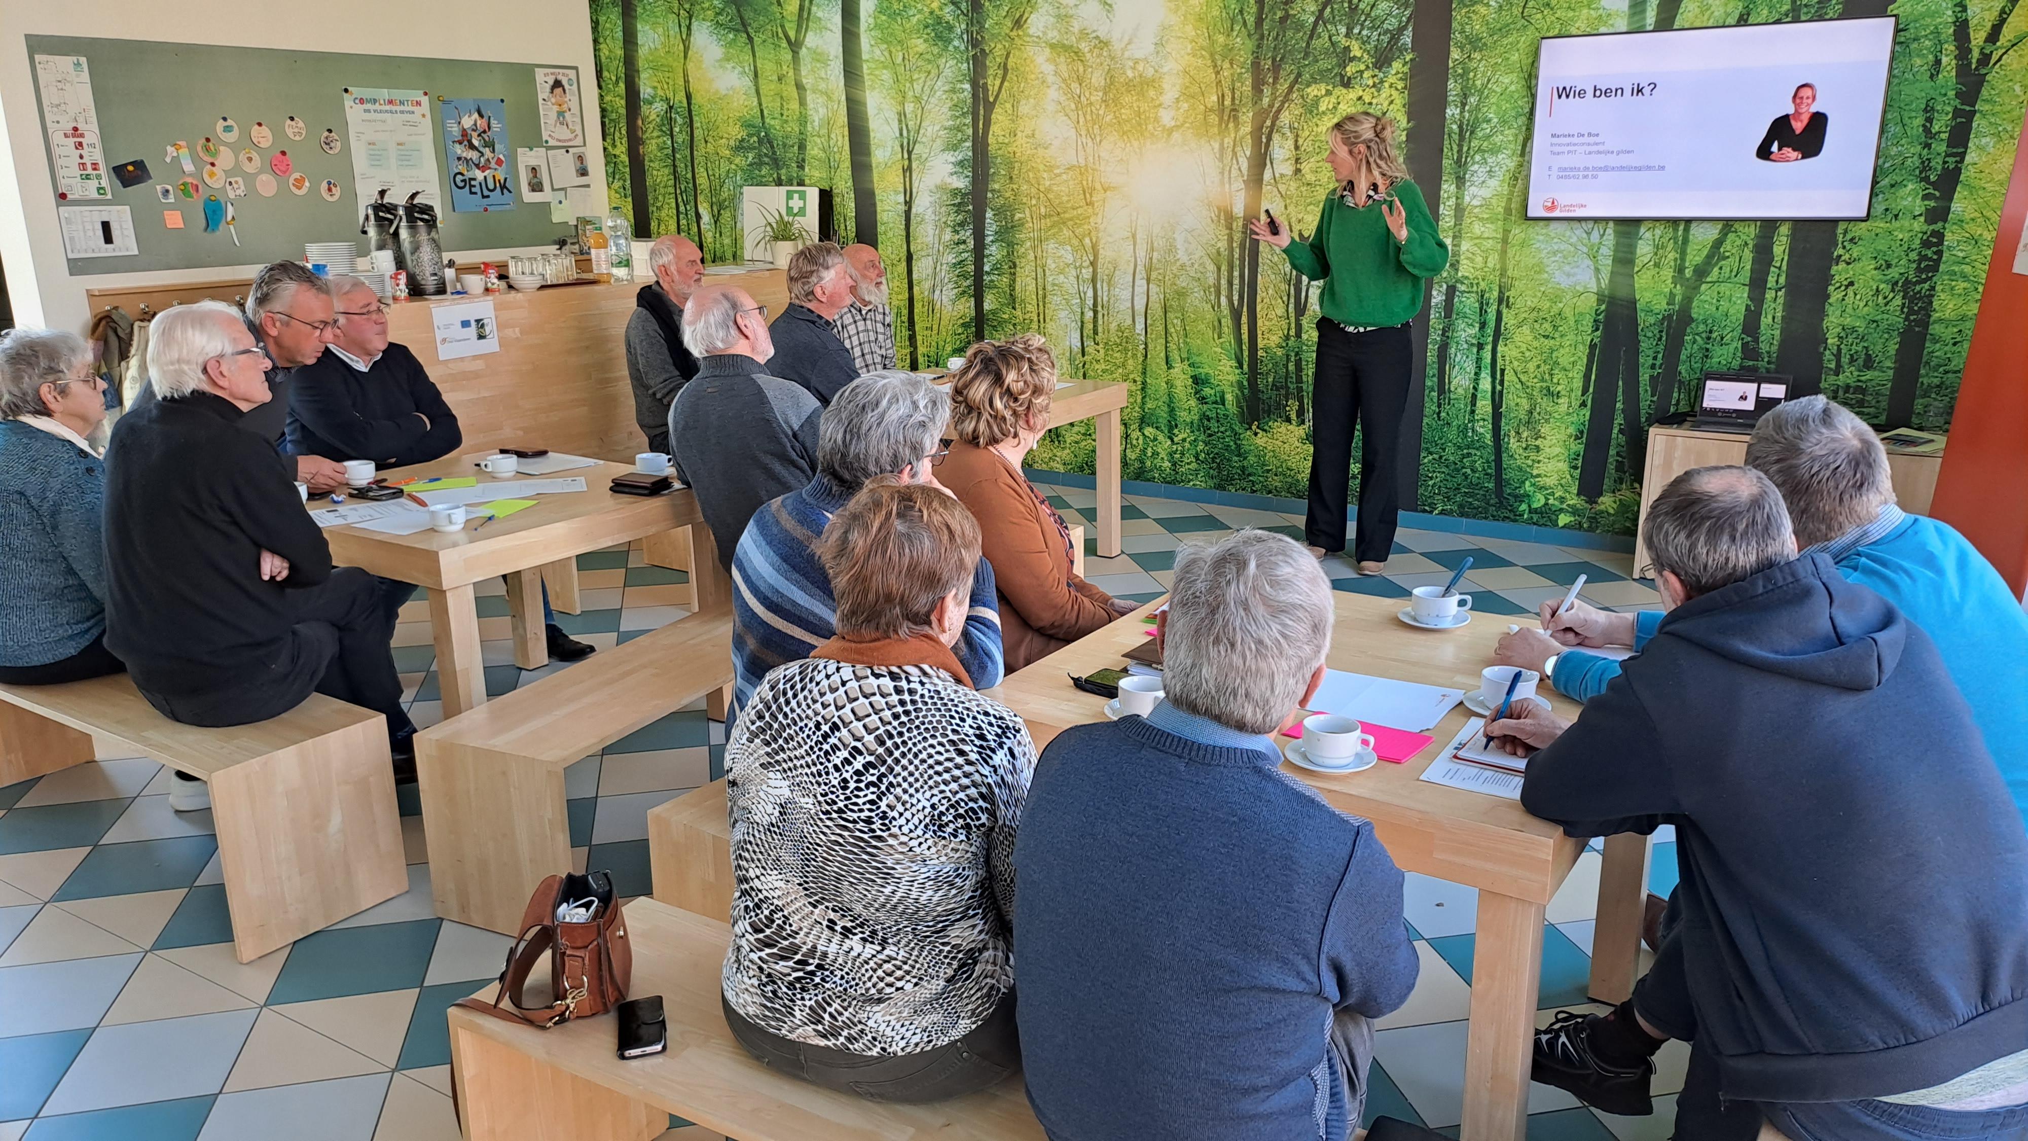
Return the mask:
[[1310, 388], [1310, 546], [1345, 550], [1345, 491], [1359, 434], [1359, 530], [1353, 558], [1385, 562], [1401, 516], [1401, 414], [1416, 365], [1407, 325], [1347, 333], [1316, 321], [1316, 382]]

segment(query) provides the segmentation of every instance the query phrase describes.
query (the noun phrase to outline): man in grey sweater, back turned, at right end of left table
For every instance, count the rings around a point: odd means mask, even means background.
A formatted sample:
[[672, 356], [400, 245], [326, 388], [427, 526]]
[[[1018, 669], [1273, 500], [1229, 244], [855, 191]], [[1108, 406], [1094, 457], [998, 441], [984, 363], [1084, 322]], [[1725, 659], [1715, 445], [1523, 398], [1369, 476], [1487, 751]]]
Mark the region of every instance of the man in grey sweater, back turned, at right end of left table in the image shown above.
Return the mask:
[[683, 345], [698, 357], [698, 376], [669, 408], [669, 453], [677, 477], [698, 495], [718, 562], [730, 570], [746, 520], [817, 473], [823, 406], [803, 386], [763, 370], [775, 341], [767, 309], [742, 288], [692, 294]]

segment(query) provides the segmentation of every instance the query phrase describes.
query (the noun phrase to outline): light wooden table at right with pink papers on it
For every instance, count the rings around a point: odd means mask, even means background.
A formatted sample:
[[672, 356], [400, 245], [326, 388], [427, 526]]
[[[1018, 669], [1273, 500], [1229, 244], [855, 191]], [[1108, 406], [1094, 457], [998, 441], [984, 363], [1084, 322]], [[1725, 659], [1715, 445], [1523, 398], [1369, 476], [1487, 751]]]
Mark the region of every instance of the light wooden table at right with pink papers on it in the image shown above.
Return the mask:
[[[1426, 631], [1395, 619], [1399, 599], [1332, 593], [1332, 601], [1338, 617], [1328, 664], [1334, 670], [1474, 690], [1478, 670], [1493, 664], [1493, 644], [1507, 631], [1507, 621], [1499, 615], [1474, 617], [1454, 631]], [[1117, 668], [1128, 648], [1148, 640], [1142, 615], [1156, 605], [1148, 603], [986, 692], [1022, 715], [1036, 747], [1073, 725], [1103, 719], [1105, 702], [1071, 688], [1065, 672], [1083, 676]], [[1555, 711], [1572, 717], [1578, 707], [1570, 698], [1555, 698]], [[1543, 908], [1562, 887], [1584, 843], [1529, 816], [1515, 800], [1418, 780], [1468, 717], [1472, 715], [1462, 704], [1454, 709], [1430, 731], [1436, 741], [1401, 765], [1381, 761], [1365, 771], [1336, 776], [1296, 765], [1286, 765], [1286, 771], [1316, 788], [1338, 810], [1373, 820], [1399, 867], [1478, 889], [1462, 1137], [1519, 1141], [1527, 1129]], [[1633, 989], [1645, 881], [1647, 838], [1608, 838], [1594, 934], [1594, 997], [1618, 1001]]]

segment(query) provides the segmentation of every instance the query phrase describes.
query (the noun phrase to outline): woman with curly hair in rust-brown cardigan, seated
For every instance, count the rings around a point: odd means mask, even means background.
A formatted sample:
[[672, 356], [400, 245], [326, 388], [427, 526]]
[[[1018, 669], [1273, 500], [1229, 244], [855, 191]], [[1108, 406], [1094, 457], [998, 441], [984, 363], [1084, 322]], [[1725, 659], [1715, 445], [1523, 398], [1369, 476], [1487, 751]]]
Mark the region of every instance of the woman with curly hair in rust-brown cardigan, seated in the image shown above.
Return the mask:
[[1071, 573], [1063, 516], [1020, 473], [1048, 428], [1057, 357], [1040, 337], [980, 341], [951, 374], [951, 453], [937, 481], [980, 520], [1012, 674], [1134, 609]]

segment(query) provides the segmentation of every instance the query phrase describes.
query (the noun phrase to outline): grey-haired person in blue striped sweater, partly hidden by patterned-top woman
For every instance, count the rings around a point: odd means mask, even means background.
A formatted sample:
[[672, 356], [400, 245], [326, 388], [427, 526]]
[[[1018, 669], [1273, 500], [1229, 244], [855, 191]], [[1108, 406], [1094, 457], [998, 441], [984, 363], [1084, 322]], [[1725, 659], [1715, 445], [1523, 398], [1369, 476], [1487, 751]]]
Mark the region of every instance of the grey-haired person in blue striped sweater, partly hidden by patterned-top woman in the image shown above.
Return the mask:
[[[817, 477], [775, 497], [746, 524], [732, 552], [732, 707], [742, 709], [769, 670], [801, 662], [838, 633], [831, 579], [817, 540], [831, 516], [876, 475], [937, 485], [951, 396], [911, 372], [876, 372], [838, 392], [817, 428]], [[951, 654], [973, 688], [1000, 684], [1000, 605], [994, 566], [980, 558], [971, 611]]]

